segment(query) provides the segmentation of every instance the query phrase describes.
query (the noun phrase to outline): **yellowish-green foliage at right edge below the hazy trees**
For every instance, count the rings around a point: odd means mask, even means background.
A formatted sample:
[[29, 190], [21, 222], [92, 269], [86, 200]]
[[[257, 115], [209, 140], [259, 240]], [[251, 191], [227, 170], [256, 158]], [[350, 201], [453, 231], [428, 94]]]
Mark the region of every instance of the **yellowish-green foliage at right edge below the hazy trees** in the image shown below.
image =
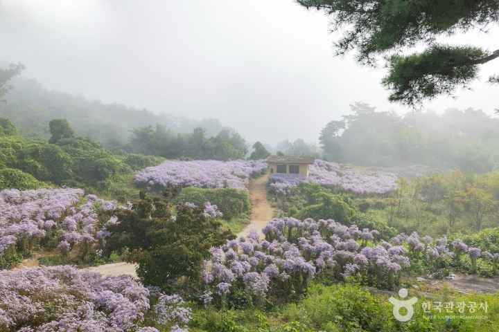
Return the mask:
[[388, 196], [356, 199], [356, 205], [403, 232], [445, 234], [496, 227], [498, 199], [498, 172], [466, 176], [454, 171], [400, 179]]

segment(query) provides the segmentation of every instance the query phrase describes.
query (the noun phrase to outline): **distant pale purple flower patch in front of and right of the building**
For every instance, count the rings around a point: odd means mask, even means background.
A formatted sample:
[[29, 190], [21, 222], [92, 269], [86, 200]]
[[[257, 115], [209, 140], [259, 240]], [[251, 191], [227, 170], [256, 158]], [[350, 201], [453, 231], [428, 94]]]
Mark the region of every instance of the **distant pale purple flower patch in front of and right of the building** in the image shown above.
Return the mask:
[[312, 182], [325, 187], [338, 187], [358, 194], [385, 194], [396, 189], [396, 175], [386, 172], [360, 171], [347, 165], [315, 160], [309, 167], [309, 176], [272, 174], [270, 187], [286, 193], [299, 183]]

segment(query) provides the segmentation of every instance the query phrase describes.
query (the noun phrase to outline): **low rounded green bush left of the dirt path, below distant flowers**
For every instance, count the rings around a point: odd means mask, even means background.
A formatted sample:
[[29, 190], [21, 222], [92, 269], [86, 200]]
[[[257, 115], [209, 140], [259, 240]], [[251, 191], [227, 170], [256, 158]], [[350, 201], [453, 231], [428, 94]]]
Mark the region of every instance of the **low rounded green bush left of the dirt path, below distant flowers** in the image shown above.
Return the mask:
[[241, 214], [248, 214], [251, 207], [248, 192], [233, 188], [202, 189], [188, 187], [182, 189], [176, 200], [177, 203], [189, 202], [198, 206], [210, 202], [217, 205], [226, 220], [236, 218]]

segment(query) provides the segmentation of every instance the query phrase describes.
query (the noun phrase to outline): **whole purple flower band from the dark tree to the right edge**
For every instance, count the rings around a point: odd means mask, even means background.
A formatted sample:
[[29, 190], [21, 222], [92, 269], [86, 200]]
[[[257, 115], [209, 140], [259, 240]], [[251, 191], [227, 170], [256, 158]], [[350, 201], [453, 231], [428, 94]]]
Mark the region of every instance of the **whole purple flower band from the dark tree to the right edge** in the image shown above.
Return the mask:
[[499, 253], [468, 248], [459, 239], [434, 241], [419, 234], [399, 234], [389, 242], [376, 230], [360, 230], [335, 221], [274, 219], [263, 230], [265, 239], [250, 234], [211, 249], [204, 264], [204, 282], [223, 301], [230, 294], [249, 293], [254, 301], [282, 299], [304, 292], [310, 280], [357, 278], [362, 284], [394, 288], [411, 262], [428, 270], [450, 261], [478, 257], [499, 264]]

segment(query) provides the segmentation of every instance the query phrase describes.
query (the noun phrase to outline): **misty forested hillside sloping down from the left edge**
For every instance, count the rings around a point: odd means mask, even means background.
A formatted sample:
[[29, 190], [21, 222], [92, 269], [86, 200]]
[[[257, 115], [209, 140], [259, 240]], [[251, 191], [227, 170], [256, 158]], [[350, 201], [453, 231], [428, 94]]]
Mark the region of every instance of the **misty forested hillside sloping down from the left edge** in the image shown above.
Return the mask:
[[0, 117], [9, 118], [25, 136], [48, 138], [48, 123], [54, 118], [66, 118], [79, 136], [116, 147], [128, 142], [132, 129], [162, 124], [177, 133], [203, 127], [208, 136], [222, 129], [216, 119], [193, 120], [169, 114], [157, 115], [146, 109], [134, 109], [122, 104], [103, 104], [82, 96], [49, 91], [36, 80], [17, 77], [12, 91], [0, 103]]

